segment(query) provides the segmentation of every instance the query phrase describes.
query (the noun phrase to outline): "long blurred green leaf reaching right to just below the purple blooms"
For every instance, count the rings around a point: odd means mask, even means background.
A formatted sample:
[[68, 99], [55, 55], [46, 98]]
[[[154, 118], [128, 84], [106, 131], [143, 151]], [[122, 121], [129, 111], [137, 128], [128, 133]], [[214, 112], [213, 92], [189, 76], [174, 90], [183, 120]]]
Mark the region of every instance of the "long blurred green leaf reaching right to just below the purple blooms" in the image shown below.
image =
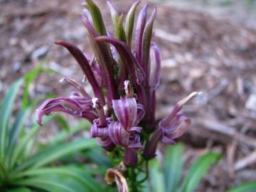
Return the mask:
[[48, 146], [24, 161], [14, 173], [28, 167], [36, 169], [72, 152], [79, 151], [80, 149], [89, 149], [94, 146], [97, 146], [96, 139], [79, 139], [69, 143]]

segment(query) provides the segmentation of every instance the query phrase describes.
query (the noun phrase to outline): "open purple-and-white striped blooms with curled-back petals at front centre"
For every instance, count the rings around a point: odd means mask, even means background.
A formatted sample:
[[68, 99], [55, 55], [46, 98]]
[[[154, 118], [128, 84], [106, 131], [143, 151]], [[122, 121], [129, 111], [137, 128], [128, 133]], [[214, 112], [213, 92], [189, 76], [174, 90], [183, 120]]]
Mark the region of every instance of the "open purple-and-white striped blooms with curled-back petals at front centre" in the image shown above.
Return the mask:
[[[102, 141], [107, 141], [111, 146], [117, 145], [125, 148], [124, 164], [134, 166], [137, 164], [137, 151], [142, 149], [139, 133], [142, 132], [142, 127], [137, 124], [144, 117], [144, 108], [137, 104], [134, 97], [131, 96], [129, 81], [125, 83], [127, 97], [122, 97], [120, 100], [112, 100], [114, 114], [118, 121], [114, 122], [112, 118], [102, 117], [102, 120], [95, 119], [91, 127], [90, 136], [100, 138], [100, 145], [105, 146]], [[99, 103], [95, 103], [99, 117]], [[103, 123], [102, 123], [103, 122]], [[112, 141], [112, 143], [110, 142]], [[108, 145], [107, 144], [107, 145]], [[111, 148], [112, 149], [112, 148]]]

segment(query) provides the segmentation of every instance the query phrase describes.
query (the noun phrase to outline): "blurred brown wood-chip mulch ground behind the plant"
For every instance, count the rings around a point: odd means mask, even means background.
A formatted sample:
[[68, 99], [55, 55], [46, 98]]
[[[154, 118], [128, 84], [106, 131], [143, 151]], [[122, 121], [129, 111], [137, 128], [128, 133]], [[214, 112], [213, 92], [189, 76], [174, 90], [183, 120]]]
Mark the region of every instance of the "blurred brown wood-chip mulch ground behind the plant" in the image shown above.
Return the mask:
[[[63, 76], [82, 82], [82, 72], [68, 51], [54, 45], [66, 40], [92, 53], [80, 22], [81, 0], [0, 0], [0, 97], [11, 82], [42, 61], [55, 73], [40, 75], [31, 97], [69, 95]], [[109, 9], [102, 9], [111, 30]], [[114, 1], [127, 11], [133, 1]], [[197, 191], [225, 191], [256, 180], [256, 1], [152, 0], [157, 6], [154, 41], [162, 53], [157, 118], [193, 91], [202, 94], [185, 112], [193, 124], [181, 142], [186, 166], [207, 150], [222, 159], [213, 166]], [[90, 86], [87, 86], [90, 90]], [[68, 116], [66, 117], [68, 118]], [[73, 118], [70, 121], [75, 121]], [[72, 122], [71, 122], [72, 124]], [[59, 127], [41, 129], [44, 142]], [[164, 146], [160, 147], [164, 151]]]

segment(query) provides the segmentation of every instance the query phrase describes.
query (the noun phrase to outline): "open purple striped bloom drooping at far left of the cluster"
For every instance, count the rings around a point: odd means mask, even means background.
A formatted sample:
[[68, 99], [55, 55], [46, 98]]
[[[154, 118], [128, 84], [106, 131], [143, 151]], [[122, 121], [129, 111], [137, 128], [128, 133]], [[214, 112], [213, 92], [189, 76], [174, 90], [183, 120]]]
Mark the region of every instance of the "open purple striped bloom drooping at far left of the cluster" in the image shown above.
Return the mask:
[[36, 120], [42, 125], [43, 115], [51, 114], [52, 112], [66, 112], [75, 117], [83, 117], [90, 122], [97, 118], [97, 115], [92, 112], [92, 102], [85, 97], [80, 97], [78, 93], [73, 93], [70, 97], [58, 97], [48, 99], [43, 102], [43, 105], [38, 109]]

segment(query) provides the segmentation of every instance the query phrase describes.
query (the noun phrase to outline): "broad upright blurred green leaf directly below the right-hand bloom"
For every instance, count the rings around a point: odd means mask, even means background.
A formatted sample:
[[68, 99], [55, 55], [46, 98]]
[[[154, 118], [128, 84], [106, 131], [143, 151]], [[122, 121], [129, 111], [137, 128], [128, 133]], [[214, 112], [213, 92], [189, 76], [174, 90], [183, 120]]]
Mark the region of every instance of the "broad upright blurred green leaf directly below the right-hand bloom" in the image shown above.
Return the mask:
[[169, 146], [164, 158], [164, 181], [166, 191], [175, 192], [178, 183], [181, 181], [183, 168], [183, 144]]

